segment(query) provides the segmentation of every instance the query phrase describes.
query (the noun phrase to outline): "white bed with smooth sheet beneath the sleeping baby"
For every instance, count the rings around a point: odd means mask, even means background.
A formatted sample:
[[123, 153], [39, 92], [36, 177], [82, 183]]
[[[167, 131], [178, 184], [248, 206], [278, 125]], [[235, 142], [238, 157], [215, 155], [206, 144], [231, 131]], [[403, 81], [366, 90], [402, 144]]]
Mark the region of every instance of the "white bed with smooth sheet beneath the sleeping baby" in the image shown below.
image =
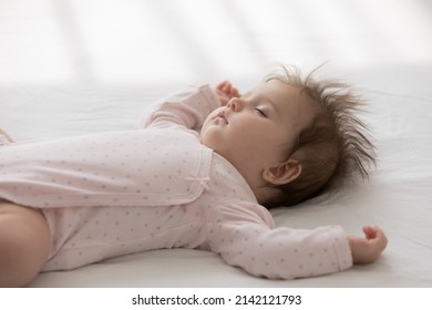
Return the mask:
[[[385, 17], [385, 18], [383, 18]], [[431, 1], [0, 2], [0, 127], [16, 141], [134, 126], [153, 101], [196, 81], [241, 90], [277, 63], [356, 85], [379, 164], [369, 182], [271, 213], [278, 226], [384, 229], [372, 265], [292, 281], [255, 278], [215, 254], [141, 252], [29, 287], [431, 287]]]

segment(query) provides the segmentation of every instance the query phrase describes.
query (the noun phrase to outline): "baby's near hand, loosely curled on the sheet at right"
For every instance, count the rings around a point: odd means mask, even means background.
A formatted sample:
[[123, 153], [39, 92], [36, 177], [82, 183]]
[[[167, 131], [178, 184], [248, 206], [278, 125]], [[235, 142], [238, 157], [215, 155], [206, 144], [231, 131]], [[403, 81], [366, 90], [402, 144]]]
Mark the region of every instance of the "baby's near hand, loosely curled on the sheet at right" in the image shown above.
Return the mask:
[[377, 260], [387, 246], [387, 237], [380, 228], [364, 226], [363, 232], [366, 238], [348, 236], [353, 264], [369, 264]]

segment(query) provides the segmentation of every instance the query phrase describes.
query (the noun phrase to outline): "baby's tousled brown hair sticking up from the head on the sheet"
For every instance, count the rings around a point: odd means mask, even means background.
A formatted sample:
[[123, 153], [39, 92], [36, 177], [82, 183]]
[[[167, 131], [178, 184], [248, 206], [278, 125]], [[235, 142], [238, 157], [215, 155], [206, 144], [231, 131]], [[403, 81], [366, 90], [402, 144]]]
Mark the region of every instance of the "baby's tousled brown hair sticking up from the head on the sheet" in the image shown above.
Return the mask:
[[376, 165], [376, 153], [369, 130], [358, 117], [364, 102], [348, 84], [317, 81], [313, 75], [319, 68], [305, 79], [295, 66], [281, 69], [265, 82], [277, 80], [298, 87], [301, 96], [317, 105], [317, 112], [290, 148], [289, 157], [301, 164], [300, 175], [280, 186], [282, 195], [267, 207], [299, 204], [356, 175], [369, 178], [368, 168]]

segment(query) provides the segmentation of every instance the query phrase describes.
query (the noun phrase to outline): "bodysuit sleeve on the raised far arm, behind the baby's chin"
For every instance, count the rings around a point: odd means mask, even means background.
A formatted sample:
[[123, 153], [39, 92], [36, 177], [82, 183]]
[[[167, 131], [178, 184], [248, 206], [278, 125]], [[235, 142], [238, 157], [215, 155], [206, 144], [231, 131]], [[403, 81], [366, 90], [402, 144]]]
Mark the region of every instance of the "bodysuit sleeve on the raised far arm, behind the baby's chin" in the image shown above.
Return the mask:
[[218, 106], [219, 101], [208, 85], [189, 86], [151, 104], [144, 110], [137, 127], [182, 125], [199, 130], [207, 115]]

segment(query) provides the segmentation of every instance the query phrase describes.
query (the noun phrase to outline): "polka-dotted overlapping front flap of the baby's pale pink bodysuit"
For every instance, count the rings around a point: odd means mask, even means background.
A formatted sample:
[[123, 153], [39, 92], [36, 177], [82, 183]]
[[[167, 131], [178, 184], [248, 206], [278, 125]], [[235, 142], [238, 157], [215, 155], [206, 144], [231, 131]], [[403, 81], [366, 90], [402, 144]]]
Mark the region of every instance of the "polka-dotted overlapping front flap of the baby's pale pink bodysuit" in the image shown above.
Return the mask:
[[192, 173], [208, 177], [212, 154], [196, 134], [169, 128], [2, 148], [0, 196], [43, 208], [183, 204], [204, 190], [199, 182], [185, 179]]

